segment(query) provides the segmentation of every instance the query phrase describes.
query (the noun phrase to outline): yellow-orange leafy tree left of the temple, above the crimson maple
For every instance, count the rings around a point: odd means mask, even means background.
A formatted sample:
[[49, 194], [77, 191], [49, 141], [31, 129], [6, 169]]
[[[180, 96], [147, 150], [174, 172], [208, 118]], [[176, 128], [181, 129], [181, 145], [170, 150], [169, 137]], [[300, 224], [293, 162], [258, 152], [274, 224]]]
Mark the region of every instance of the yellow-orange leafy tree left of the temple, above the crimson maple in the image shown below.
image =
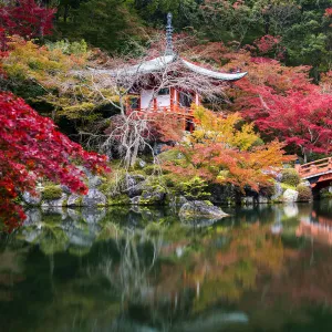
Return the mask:
[[84, 82], [75, 74], [75, 71], [85, 69], [94, 56], [94, 51], [87, 50], [84, 41], [60, 41], [40, 46], [33, 41], [11, 37], [9, 49], [8, 56], [1, 59], [6, 83], [13, 91], [17, 87], [22, 91], [29, 85], [39, 86], [41, 92], [33, 95], [29, 91], [27, 98], [52, 105], [53, 118], [59, 115], [93, 120], [93, 111], [105, 104], [105, 98], [91, 89], [91, 82]]

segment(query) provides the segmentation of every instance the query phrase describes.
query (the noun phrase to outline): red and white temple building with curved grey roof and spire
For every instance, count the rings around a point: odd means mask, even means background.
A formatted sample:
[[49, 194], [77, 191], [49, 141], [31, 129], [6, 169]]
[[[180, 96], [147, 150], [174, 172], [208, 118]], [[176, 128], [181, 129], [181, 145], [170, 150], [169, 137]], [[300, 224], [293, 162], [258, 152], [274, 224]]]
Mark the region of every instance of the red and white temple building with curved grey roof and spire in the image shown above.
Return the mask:
[[[184, 122], [184, 129], [191, 131], [194, 128], [191, 105], [199, 105], [204, 96], [193, 89], [185, 89], [184, 85], [160, 84], [159, 76], [165, 75], [165, 73], [172, 76], [176, 72], [175, 68], [180, 68], [181, 73], [189, 73], [191, 76], [203, 76], [204, 80], [209, 80], [215, 85], [220, 84], [220, 82], [237, 81], [247, 75], [247, 72], [222, 73], [212, 71], [191, 63], [177, 54], [173, 46], [172, 14], [168, 13], [164, 55], [113, 71], [114, 76], [126, 77], [127, 81], [132, 79], [132, 82], [139, 81], [134, 83], [129, 90], [131, 97], [126, 105], [126, 112], [165, 112], [172, 114], [173, 117], [180, 118]], [[98, 72], [103, 72], [103, 70]], [[106, 74], [106, 71], [104, 73]]]

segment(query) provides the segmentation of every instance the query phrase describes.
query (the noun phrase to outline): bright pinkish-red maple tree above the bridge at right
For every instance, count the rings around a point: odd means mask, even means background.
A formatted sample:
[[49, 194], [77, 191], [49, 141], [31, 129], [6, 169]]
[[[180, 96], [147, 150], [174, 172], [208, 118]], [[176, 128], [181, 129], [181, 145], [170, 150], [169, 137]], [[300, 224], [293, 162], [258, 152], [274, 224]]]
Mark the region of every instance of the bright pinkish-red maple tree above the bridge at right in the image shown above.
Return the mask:
[[308, 84], [283, 94], [272, 87], [251, 86], [251, 96], [242, 100], [247, 118], [260, 132], [299, 148], [304, 162], [312, 153], [332, 152], [332, 95]]

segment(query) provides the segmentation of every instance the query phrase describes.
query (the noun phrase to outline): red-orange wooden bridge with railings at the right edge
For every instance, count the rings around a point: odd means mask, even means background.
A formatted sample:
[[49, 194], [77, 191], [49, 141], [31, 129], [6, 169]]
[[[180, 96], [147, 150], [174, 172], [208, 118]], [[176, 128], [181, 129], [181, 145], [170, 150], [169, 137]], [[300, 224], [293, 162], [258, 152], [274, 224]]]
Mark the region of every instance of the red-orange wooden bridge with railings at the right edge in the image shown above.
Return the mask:
[[311, 188], [324, 188], [332, 183], [332, 157], [297, 165], [299, 175], [310, 181]]

